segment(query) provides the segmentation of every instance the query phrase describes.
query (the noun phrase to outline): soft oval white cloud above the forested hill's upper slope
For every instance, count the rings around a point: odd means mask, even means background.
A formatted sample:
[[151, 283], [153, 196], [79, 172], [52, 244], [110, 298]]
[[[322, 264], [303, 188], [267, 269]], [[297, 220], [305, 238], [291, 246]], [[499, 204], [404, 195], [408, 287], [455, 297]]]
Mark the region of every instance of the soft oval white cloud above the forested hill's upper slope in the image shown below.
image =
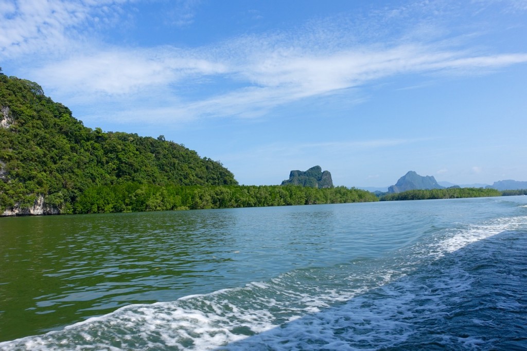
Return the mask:
[[113, 49], [53, 62], [38, 69], [37, 77], [51, 82], [58, 91], [122, 95], [225, 70], [222, 64], [172, 49]]

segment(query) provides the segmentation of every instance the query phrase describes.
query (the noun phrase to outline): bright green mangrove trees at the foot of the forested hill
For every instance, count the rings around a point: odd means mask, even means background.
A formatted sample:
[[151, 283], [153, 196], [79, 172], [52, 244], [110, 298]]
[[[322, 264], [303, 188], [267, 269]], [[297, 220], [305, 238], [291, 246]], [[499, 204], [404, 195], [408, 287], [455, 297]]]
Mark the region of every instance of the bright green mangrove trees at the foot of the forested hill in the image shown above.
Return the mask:
[[181, 186], [122, 183], [86, 189], [73, 205], [75, 213], [341, 204], [377, 201], [356, 188], [296, 185]]

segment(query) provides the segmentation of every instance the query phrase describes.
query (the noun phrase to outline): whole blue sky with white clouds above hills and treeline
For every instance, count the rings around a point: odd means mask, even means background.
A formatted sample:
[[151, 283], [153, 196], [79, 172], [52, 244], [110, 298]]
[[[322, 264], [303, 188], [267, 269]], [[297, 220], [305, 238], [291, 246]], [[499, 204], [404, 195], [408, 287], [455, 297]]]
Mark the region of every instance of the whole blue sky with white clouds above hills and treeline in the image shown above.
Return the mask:
[[240, 184], [527, 180], [527, 0], [0, 0], [0, 67]]

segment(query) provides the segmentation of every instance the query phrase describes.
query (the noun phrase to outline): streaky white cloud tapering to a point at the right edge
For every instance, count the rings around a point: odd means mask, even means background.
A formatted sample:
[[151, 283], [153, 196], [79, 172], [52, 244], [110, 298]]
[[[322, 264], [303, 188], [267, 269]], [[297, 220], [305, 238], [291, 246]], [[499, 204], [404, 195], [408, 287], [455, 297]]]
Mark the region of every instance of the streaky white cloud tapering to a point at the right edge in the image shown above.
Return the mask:
[[325, 56], [277, 51], [259, 50], [257, 58], [248, 58], [241, 65], [224, 61], [223, 67], [231, 70], [226, 72], [228, 75], [252, 86], [212, 96], [187, 107], [204, 114], [258, 115], [258, 111], [265, 112], [299, 99], [335, 93], [396, 74], [452, 71], [460, 67], [493, 68], [527, 62], [527, 55], [523, 54], [463, 58], [466, 53], [434, 52], [426, 45], [359, 47]]

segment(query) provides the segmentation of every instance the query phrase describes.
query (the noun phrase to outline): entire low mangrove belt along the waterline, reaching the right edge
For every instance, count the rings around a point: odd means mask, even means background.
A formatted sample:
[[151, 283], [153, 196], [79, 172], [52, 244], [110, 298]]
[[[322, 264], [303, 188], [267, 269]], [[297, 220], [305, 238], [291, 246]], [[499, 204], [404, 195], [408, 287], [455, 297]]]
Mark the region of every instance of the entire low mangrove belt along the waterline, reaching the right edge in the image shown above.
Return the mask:
[[[318, 189], [300, 185], [186, 186], [128, 182], [90, 187], [80, 194], [73, 204], [62, 204], [61, 207], [55, 207], [54, 212], [43, 214], [127, 213], [514, 195], [527, 195], [527, 189], [504, 191], [490, 188], [426, 189], [376, 196], [367, 190], [345, 186]], [[45, 205], [53, 206], [49, 203]]]

